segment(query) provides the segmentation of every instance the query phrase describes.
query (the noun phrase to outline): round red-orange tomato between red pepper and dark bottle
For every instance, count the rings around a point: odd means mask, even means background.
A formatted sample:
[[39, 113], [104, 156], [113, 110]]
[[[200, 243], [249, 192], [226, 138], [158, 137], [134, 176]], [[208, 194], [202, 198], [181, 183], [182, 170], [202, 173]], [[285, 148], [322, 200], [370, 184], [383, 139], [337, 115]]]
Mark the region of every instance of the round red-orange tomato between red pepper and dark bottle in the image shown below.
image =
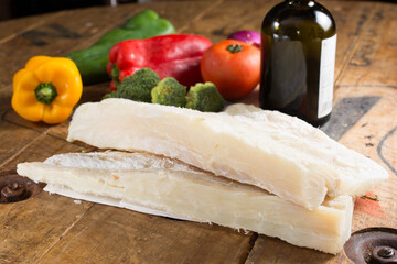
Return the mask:
[[201, 73], [226, 100], [240, 99], [259, 82], [260, 50], [240, 41], [222, 41], [204, 53]]

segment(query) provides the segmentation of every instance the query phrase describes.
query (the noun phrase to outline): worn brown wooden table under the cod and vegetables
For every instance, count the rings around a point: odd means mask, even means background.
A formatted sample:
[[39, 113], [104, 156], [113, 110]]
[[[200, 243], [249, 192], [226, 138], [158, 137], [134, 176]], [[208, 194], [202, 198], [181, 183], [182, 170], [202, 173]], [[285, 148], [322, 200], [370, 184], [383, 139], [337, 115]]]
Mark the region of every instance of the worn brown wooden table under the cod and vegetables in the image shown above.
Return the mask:
[[[279, 0], [277, 0], [279, 1]], [[62, 56], [89, 46], [128, 18], [153, 9], [179, 33], [213, 42], [237, 30], [259, 30], [277, 1], [193, 1], [125, 4], [63, 11], [0, 23], [0, 179], [21, 162], [55, 153], [92, 150], [65, 141], [58, 125], [23, 120], [10, 106], [12, 75], [34, 55]], [[375, 160], [390, 178], [356, 199], [353, 231], [397, 227], [397, 6], [324, 1], [337, 24], [335, 100], [323, 130]], [[81, 102], [98, 101], [108, 84], [86, 86]], [[247, 99], [257, 103], [257, 92]], [[75, 201], [41, 191], [20, 202], [0, 204], [0, 263], [348, 263], [254, 232], [148, 216]]]

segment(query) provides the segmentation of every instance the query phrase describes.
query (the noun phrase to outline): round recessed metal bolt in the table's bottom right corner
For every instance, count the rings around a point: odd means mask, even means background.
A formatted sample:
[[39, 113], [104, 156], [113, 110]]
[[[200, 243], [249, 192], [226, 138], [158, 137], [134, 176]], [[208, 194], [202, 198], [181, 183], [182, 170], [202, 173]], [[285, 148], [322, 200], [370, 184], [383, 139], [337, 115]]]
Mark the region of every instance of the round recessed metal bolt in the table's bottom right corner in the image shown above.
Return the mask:
[[397, 264], [397, 229], [368, 228], [354, 232], [344, 251], [356, 264]]

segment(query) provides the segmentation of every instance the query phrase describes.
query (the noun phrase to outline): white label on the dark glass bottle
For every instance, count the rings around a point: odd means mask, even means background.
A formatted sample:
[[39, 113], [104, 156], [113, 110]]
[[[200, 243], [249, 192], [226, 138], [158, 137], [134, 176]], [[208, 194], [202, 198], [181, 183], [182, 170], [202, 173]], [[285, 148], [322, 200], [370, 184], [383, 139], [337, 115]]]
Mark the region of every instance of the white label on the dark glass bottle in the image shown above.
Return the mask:
[[318, 118], [325, 117], [332, 110], [336, 34], [321, 42]]

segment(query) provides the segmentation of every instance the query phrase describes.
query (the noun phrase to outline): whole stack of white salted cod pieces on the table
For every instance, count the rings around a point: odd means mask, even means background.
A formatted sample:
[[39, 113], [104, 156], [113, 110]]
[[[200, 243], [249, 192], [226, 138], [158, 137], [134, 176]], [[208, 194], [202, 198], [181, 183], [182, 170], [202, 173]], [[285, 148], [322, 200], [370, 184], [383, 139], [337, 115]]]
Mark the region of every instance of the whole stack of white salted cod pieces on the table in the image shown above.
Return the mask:
[[336, 254], [353, 196], [388, 177], [297, 118], [246, 105], [206, 113], [125, 99], [84, 103], [68, 141], [101, 153], [23, 163], [18, 173], [74, 198], [251, 230]]

